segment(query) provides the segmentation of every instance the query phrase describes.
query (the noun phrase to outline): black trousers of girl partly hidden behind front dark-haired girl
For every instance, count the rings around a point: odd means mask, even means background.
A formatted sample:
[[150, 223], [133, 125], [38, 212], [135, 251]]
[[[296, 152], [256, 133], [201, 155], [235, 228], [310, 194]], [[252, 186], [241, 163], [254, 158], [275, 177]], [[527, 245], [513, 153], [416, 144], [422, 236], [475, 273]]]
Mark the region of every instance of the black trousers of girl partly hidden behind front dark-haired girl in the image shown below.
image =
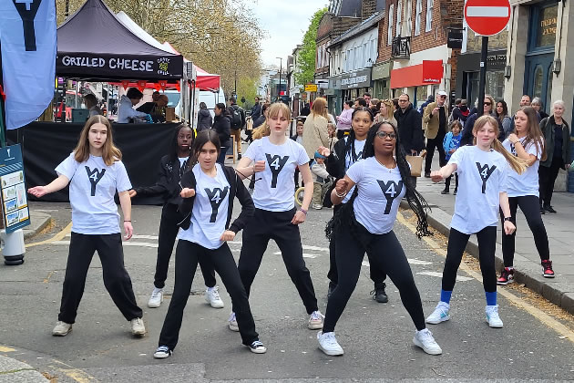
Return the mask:
[[[158, 261], [156, 262], [156, 274], [153, 285], [163, 288], [168, 278], [169, 259], [173, 252], [173, 244], [178, 236], [178, 223], [181, 222], [181, 215], [178, 212], [178, 206], [173, 203], [166, 203], [161, 210], [161, 221], [159, 222], [159, 240], [158, 240]], [[213, 287], [217, 283], [215, 280], [215, 271], [210, 257], [200, 259], [201, 274], [205, 280], [205, 285]]]

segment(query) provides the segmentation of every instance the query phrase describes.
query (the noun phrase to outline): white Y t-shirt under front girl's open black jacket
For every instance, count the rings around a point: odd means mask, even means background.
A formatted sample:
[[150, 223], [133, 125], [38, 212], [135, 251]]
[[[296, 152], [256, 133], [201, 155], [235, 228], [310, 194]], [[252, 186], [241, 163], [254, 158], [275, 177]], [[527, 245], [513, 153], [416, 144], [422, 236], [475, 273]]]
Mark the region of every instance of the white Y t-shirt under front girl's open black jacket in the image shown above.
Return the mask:
[[218, 249], [223, 244], [221, 234], [225, 232], [227, 211], [230, 204], [230, 182], [219, 163], [215, 164], [217, 174], [210, 177], [196, 164], [195, 201], [191, 212], [191, 224], [187, 230], [179, 230], [178, 239], [198, 243], [206, 249]]

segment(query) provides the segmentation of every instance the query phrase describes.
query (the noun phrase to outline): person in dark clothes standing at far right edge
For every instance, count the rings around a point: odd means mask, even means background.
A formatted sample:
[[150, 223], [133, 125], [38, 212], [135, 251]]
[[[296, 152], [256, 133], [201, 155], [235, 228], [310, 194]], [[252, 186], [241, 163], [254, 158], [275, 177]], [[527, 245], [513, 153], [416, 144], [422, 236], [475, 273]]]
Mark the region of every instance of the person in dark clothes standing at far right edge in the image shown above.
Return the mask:
[[552, 115], [540, 122], [546, 145], [546, 160], [540, 160], [540, 212], [556, 212], [552, 207], [554, 182], [560, 169], [568, 170], [570, 160], [570, 128], [563, 118], [566, 109], [561, 99], [552, 104]]

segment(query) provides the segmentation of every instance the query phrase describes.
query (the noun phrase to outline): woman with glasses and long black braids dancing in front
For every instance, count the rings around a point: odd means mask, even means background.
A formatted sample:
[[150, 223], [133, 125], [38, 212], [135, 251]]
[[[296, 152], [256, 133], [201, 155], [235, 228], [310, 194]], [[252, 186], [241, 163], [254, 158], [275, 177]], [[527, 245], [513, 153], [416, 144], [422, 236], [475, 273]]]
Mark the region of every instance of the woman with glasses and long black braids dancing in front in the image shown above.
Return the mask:
[[425, 210], [428, 205], [415, 190], [398, 130], [391, 122], [380, 122], [369, 129], [363, 158], [349, 168], [343, 179], [337, 181], [331, 193], [331, 201], [337, 205], [356, 185], [349, 202], [327, 224], [327, 236], [336, 242], [339, 283], [329, 297], [323, 331], [317, 334], [319, 348], [327, 355], [343, 355], [343, 348], [334, 336], [334, 327], [353, 294], [364, 254], [370, 253], [369, 261], [389, 275], [401, 294], [403, 305], [415, 323], [415, 345], [428, 354], [441, 354], [441, 348], [426, 329], [423, 305], [413, 273], [403, 247], [393, 232], [399, 204], [406, 195], [418, 221], [417, 235], [427, 234]]

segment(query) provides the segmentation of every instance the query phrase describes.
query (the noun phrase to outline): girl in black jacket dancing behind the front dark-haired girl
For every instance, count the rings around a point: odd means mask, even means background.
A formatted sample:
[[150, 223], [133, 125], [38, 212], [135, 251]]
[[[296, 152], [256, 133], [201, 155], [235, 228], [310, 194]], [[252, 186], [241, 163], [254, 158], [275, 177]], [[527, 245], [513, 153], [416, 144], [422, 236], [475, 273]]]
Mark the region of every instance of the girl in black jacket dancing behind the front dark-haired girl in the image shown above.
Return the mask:
[[[207, 110], [207, 109], [206, 109]], [[186, 124], [180, 124], [174, 132], [173, 143], [169, 154], [159, 160], [159, 177], [153, 186], [142, 186], [129, 191], [129, 197], [153, 196], [163, 197], [159, 221], [158, 258], [156, 273], [154, 275], [154, 289], [149, 297], [148, 307], [159, 307], [163, 302], [166, 279], [168, 278], [169, 260], [173, 252], [173, 245], [179, 232], [179, 223], [184, 216], [179, 212], [181, 197], [180, 181], [183, 173], [187, 171], [190, 160], [192, 132]], [[222, 308], [219, 288], [216, 286], [215, 271], [210, 258], [200, 258], [201, 273], [205, 281], [205, 299], [214, 308]]]

